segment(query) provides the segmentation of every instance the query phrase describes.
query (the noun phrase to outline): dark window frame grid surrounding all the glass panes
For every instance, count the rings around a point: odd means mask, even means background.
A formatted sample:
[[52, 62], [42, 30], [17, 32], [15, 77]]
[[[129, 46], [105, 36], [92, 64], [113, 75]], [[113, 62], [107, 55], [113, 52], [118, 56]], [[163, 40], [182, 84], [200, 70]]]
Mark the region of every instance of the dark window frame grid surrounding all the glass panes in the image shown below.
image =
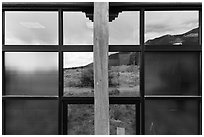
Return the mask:
[[[109, 45], [110, 52], [134, 51], [140, 52], [140, 97], [109, 97], [110, 104], [135, 104], [136, 105], [136, 134], [145, 134], [145, 100], [198, 100], [198, 134], [202, 134], [202, 4], [201, 3], [151, 3], [151, 2], [110, 2], [109, 11], [139, 11], [140, 12], [140, 44], [139, 45]], [[172, 11], [172, 10], [197, 10], [199, 11], [199, 45], [145, 46], [145, 11]], [[58, 12], [58, 44], [57, 45], [5, 45], [5, 11], [56, 11]], [[63, 45], [63, 11], [82, 11], [93, 13], [92, 2], [3, 2], [2, 4], [2, 134], [6, 134], [5, 103], [6, 100], [57, 100], [58, 101], [58, 134], [67, 134], [67, 104], [93, 104], [93, 97], [63, 97], [63, 52], [93, 52], [93, 45]], [[146, 52], [197, 52], [200, 54], [199, 68], [199, 96], [145, 96], [144, 61]], [[5, 95], [5, 52], [58, 52], [59, 58], [59, 91], [58, 96], [8, 96]]]

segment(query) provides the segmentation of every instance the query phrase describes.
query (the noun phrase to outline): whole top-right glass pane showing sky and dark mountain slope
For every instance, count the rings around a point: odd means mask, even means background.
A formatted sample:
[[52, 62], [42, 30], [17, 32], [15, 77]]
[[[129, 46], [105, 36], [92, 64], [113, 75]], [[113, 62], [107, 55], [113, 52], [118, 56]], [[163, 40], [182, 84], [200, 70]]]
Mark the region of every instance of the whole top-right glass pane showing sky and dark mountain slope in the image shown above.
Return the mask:
[[146, 11], [146, 45], [198, 44], [198, 11]]

